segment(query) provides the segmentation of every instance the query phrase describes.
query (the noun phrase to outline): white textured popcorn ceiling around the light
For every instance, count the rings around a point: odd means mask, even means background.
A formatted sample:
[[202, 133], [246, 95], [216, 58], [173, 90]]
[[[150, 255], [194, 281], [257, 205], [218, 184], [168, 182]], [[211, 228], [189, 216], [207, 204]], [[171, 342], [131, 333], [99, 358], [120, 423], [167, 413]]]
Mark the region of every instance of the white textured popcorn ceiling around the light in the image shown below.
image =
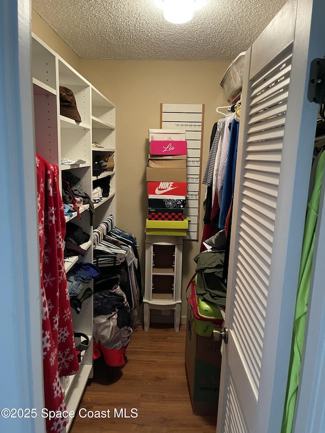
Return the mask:
[[246, 51], [285, 0], [208, 0], [171, 24], [152, 0], [32, 0], [79, 57], [231, 61]]

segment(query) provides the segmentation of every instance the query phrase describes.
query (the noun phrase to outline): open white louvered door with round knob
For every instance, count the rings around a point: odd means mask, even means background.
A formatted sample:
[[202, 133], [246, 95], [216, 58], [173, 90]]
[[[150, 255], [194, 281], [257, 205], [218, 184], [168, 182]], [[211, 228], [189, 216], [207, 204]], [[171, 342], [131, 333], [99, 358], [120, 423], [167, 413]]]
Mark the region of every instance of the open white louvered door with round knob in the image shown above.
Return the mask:
[[307, 82], [311, 58], [323, 55], [309, 37], [320, 3], [288, 2], [246, 53], [217, 433], [280, 433], [318, 108]]

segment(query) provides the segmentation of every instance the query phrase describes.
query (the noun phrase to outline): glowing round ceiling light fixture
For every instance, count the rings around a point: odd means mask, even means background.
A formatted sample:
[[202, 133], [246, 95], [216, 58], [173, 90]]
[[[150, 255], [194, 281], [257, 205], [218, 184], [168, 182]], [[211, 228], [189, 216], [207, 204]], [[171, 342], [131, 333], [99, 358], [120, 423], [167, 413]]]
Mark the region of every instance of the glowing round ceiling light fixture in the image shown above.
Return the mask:
[[154, 3], [164, 11], [166, 21], [183, 24], [193, 18], [194, 11], [206, 6], [207, 0], [154, 0]]

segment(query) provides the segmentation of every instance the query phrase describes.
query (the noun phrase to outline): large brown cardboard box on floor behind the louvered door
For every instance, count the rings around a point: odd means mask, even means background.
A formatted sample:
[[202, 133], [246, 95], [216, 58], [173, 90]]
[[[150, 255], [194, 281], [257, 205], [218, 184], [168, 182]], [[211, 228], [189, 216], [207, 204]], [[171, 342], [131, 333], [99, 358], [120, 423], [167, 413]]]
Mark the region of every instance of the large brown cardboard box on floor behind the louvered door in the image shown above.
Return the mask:
[[185, 368], [193, 413], [216, 415], [218, 409], [221, 354], [220, 341], [197, 335], [193, 312], [187, 305]]

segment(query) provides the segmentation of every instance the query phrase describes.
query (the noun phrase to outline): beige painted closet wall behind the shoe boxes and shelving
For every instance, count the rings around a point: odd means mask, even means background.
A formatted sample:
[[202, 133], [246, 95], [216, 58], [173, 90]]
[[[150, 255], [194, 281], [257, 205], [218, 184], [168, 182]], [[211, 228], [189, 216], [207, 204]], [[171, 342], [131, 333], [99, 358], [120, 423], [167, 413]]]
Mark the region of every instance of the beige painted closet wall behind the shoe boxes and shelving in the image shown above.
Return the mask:
[[[204, 104], [204, 169], [211, 129], [219, 117], [215, 109], [227, 104], [219, 83], [229, 63], [80, 59], [35, 12], [32, 29], [116, 106], [117, 225], [137, 237], [144, 272], [148, 129], [160, 127], [160, 103]], [[202, 188], [201, 208], [204, 192]], [[202, 209], [200, 214], [202, 220]], [[199, 250], [200, 241], [184, 241], [183, 301]]]

